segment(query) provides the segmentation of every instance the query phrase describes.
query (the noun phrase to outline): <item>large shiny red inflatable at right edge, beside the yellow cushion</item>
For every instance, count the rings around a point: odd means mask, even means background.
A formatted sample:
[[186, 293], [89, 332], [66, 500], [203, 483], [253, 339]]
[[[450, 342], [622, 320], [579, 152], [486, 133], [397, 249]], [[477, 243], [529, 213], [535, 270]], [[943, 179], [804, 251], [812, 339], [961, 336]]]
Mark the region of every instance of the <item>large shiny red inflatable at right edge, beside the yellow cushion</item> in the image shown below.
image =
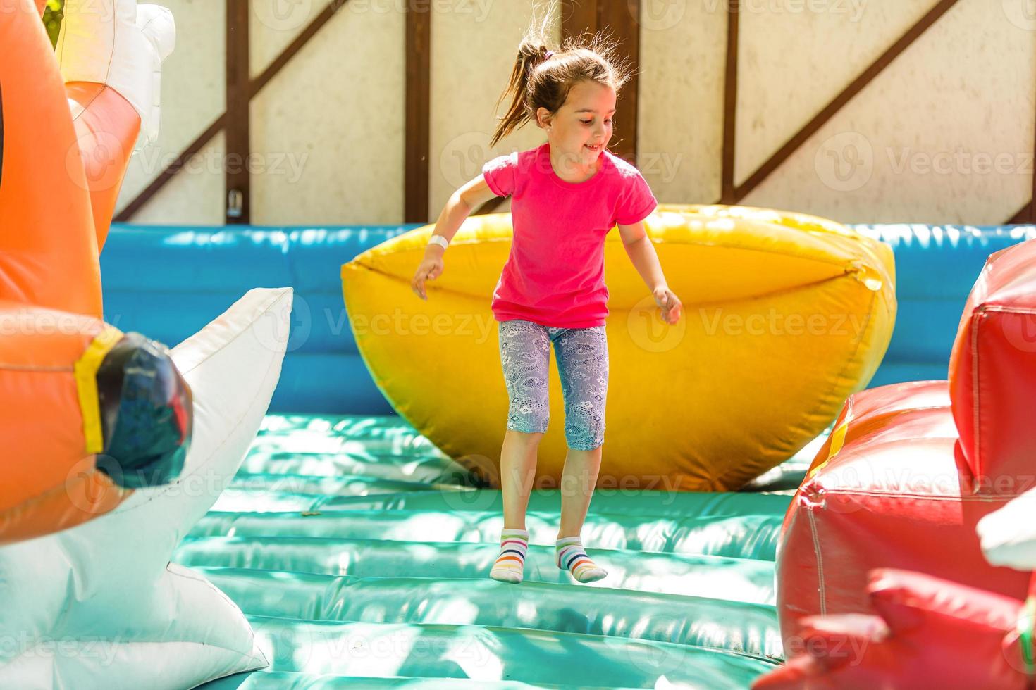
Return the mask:
[[803, 619], [872, 613], [874, 568], [918, 571], [1023, 599], [975, 526], [1036, 484], [1036, 241], [992, 254], [968, 300], [949, 382], [848, 398], [785, 516], [777, 605], [785, 655]]

